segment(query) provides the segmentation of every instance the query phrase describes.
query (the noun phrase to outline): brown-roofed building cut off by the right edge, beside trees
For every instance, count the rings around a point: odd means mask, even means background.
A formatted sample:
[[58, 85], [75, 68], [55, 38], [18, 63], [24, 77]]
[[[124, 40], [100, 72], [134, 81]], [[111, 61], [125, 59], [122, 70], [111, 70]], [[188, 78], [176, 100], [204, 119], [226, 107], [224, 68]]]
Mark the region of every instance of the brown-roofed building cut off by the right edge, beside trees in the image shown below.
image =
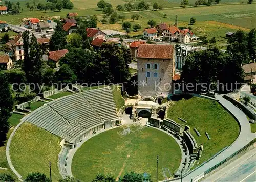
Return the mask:
[[244, 81], [248, 84], [256, 83], [256, 63], [244, 64], [243, 70], [245, 72]]

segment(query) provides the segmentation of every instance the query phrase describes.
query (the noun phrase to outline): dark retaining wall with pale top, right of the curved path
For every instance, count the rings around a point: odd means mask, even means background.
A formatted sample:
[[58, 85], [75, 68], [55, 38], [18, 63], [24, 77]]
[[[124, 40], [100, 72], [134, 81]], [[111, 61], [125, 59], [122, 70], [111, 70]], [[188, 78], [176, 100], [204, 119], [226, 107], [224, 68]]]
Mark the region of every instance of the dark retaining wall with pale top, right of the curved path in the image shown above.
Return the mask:
[[228, 94], [223, 95], [223, 98], [227, 99], [228, 101], [233, 103], [233, 105], [240, 108], [250, 119], [256, 120], [256, 113], [249, 106], [245, 106], [243, 103], [233, 99]]

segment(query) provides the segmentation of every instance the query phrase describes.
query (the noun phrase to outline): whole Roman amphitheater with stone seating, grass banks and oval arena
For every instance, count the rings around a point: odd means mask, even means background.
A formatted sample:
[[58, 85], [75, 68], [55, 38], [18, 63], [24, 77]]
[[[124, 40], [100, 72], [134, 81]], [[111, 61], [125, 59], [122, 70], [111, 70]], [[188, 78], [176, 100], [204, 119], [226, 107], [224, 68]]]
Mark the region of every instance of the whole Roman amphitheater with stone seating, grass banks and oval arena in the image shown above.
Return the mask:
[[157, 155], [158, 181], [198, 181], [255, 138], [246, 115], [222, 95], [122, 97], [120, 88], [108, 86], [63, 92], [70, 94], [44, 93], [33, 111], [28, 103], [16, 106], [24, 117], [12, 130], [6, 157], [21, 181], [31, 172], [49, 175], [49, 161], [53, 181], [74, 176], [88, 182], [98, 173], [118, 180], [131, 171], [155, 181]]

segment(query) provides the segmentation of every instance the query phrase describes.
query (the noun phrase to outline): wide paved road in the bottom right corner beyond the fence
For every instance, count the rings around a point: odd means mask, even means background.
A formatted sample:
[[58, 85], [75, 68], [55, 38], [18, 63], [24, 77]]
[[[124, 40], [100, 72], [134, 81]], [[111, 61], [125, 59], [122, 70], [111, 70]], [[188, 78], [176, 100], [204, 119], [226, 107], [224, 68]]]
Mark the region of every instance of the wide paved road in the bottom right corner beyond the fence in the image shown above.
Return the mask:
[[256, 181], [256, 148], [248, 151], [237, 160], [216, 173], [205, 178], [203, 182], [254, 182]]

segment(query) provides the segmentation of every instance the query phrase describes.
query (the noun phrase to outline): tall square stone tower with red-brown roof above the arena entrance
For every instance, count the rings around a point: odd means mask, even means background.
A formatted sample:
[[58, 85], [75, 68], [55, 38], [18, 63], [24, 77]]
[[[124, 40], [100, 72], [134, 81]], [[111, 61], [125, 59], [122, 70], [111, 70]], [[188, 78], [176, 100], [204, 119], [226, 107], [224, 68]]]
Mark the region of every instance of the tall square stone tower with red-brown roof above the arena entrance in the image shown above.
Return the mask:
[[140, 96], [167, 97], [172, 93], [175, 75], [173, 45], [140, 44], [137, 59]]

